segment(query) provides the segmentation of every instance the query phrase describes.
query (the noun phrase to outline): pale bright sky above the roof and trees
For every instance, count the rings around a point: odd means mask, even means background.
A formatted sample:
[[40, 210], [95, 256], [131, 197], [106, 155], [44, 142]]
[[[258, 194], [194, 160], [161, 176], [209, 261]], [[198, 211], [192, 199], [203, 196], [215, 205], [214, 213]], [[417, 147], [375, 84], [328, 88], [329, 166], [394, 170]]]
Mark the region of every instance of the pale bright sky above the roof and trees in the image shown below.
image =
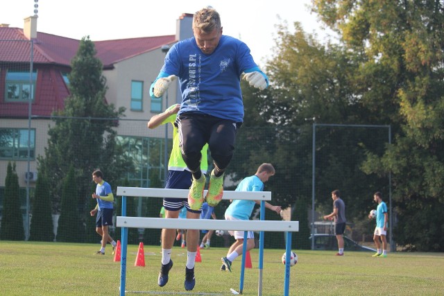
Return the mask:
[[289, 31], [299, 21], [307, 33], [326, 33], [316, 15], [309, 12], [310, 0], [3, 0], [0, 24], [23, 28], [24, 18], [34, 15], [37, 1], [37, 31], [93, 41], [176, 34], [176, 20], [212, 6], [221, 15], [223, 34], [237, 37], [250, 47], [258, 64], [272, 56], [276, 24], [287, 21]]

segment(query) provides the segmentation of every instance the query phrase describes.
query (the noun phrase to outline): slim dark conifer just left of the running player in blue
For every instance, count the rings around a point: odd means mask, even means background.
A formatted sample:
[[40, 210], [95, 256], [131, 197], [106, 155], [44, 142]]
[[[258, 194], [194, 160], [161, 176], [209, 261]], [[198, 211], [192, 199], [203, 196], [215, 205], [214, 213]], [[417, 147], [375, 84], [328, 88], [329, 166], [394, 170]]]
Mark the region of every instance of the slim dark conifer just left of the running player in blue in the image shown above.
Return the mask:
[[58, 218], [57, 241], [83, 242], [85, 231], [78, 214], [78, 186], [73, 182], [74, 167], [71, 166], [62, 180], [62, 201]]

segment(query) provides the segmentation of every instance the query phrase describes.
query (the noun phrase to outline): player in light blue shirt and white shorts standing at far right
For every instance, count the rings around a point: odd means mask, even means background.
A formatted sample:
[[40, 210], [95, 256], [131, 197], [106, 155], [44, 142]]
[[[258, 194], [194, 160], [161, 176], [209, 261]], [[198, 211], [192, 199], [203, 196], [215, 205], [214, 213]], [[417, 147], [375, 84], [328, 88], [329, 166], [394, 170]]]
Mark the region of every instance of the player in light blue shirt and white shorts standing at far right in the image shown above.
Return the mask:
[[[373, 195], [373, 200], [377, 203], [376, 208], [376, 227], [373, 234], [373, 241], [375, 241], [377, 253], [373, 254], [373, 257], [386, 257], [387, 256], [387, 227], [388, 227], [388, 212], [387, 204], [382, 201], [382, 193], [379, 191]], [[368, 215], [368, 218], [372, 218]], [[382, 250], [381, 250], [382, 242]]]

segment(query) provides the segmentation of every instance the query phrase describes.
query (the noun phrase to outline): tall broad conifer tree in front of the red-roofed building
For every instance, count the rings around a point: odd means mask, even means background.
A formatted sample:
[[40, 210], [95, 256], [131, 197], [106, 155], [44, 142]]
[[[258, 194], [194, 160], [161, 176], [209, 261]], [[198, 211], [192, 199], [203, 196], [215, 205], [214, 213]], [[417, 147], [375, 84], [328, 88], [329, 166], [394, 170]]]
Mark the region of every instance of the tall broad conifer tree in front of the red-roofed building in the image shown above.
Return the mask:
[[49, 176], [53, 196], [53, 211], [60, 212], [62, 183], [71, 166], [78, 195], [80, 220], [87, 219], [87, 200], [91, 196], [91, 174], [101, 168], [110, 184], [116, 184], [121, 175], [131, 172], [130, 159], [123, 156], [113, 129], [117, 119], [123, 116], [124, 108], [114, 110], [114, 105], [105, 101], [105, 78], [102, 64], [97, 59], [94, 43], [89, 37], [80, 41], [78, 52], [71, 60], [69, 73], [70, 95], [65, 108], [55, 112], [55, 125], [49, 130], [48, 146], [44, 157], [39, 157], [40, 166]]

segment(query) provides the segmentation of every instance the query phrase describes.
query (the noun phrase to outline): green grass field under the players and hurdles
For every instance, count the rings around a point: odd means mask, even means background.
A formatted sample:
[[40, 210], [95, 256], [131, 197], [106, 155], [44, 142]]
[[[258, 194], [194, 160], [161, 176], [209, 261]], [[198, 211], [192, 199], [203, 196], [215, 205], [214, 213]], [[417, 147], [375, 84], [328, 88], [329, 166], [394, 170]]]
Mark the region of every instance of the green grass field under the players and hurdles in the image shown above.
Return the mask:
[[[196, 287], [184, 289], [185, 249], [175, 247], [167, 286], [157, 286], [160, 247], [144, 246], [145, 267], [135, 267], [137, 245], [128, 246], [127, 295], [231, 295], [239, 290], [241, 258], [233, 272], [221, 272], [227, 249], [200, 250]], [[0, 241], [1, 295], [119, 295], [120, 262], [108, 245], [105, 256], [93, 253], [99, 244]], [[291, 268], [290, 295], [443, 295], [444, 254], [395, 253], [373, 258], [369, 252], [295, 250], [299, 261]], [[284, 250], [265, 250], [263, 295], [283, 295]], [[244, 295], [257, 295], [258, 250], [250, 252], [253, 268], [246, 269]]]

